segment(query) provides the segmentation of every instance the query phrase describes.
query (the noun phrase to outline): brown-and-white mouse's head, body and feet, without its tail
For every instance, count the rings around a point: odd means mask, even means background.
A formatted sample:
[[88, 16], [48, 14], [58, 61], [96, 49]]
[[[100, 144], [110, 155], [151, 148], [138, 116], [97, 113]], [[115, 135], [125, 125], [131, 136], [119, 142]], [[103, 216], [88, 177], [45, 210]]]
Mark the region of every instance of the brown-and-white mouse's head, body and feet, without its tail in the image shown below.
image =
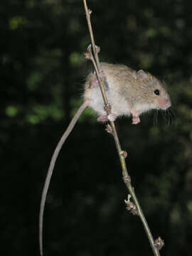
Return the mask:
[[[121, 115], [132, 114], [132, 124], [140, 122], [139, 115], [152, 109], [166, 110], [171, 106], [169, 94], [164, 89], [162, 82], [143, 70], [136, 72], [125, 65], [101, 63], [102, 76], [105, 80], [105, 91], [112, 107], [112, 120]], [[89, 102], [91, 107], [100, 117], [98, 121], [107, 119], [104, 102], [101, 97], [97, 78], [90, 73], [85, 82], [84, 102]]]

